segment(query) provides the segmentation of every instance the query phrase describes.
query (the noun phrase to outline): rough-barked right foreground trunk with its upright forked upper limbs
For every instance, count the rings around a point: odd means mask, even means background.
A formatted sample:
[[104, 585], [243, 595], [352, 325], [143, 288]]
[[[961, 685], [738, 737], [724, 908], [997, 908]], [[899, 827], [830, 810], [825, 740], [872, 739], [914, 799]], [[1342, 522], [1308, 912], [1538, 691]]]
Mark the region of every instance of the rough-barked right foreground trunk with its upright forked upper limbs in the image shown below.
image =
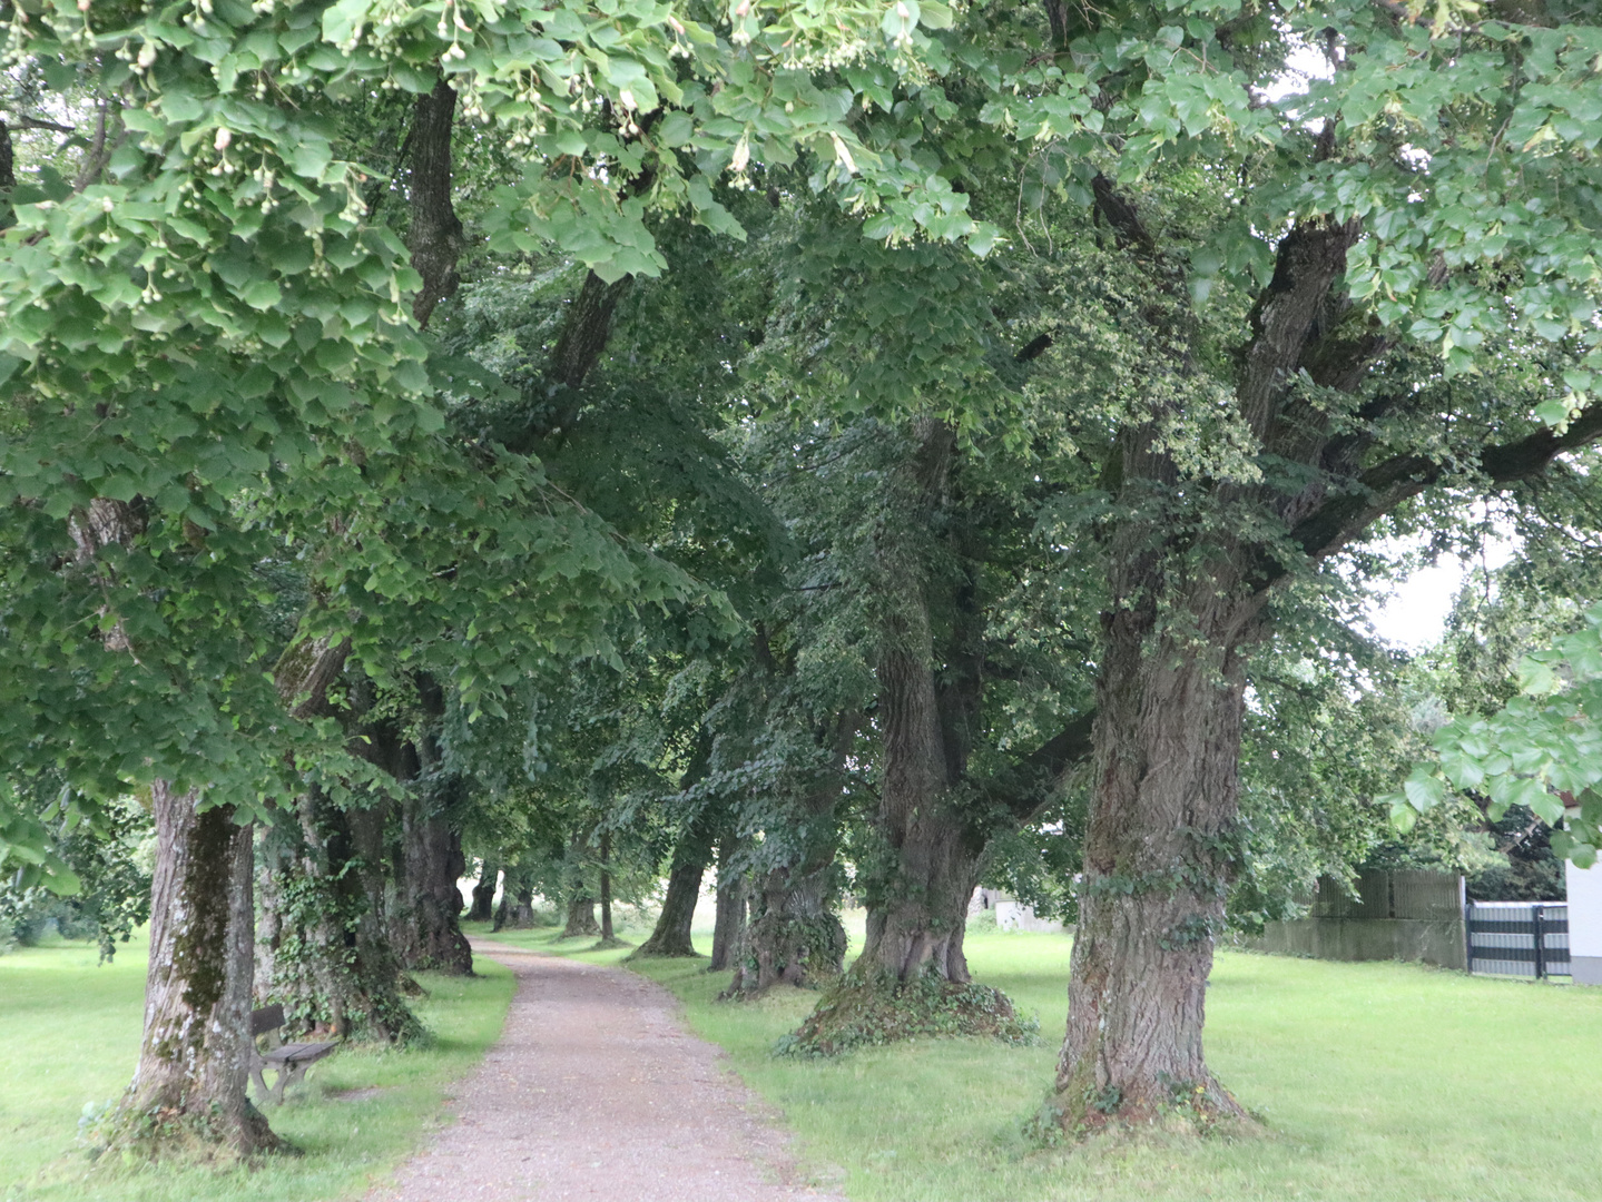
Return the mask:
[[[1182, 272], [1133, 206], [1110, 184], [1097, 190], [1097, 206], [1123, 230], [1120, 243], [1152, 267], [1153, 298], [1181, 311]], [[1352, 387], [1384, 349], [1341, 320], [1336, 290], [1357, 235], [1355, 224], [1314, 221], [1282, 238], [1235, 360], [1242, 421], [1267, 453], [1314, 469], [1331, 453], [1330, 423], [1299, 399], [1294, 379], [1306, 373], [1325, 387]], [[1147, 319], [1184, 325], [1158, 299]], [[1181, 357], [1176, 370], [1192, 368]], [[1202, 1032], [1232, 863], [1243, 655], [1261, 635], [1266, 594], [1253, 567], [1261, 549], [1219, 533], [1229, 523], [1218, 514], [1270, 509], [1293, 527], [1323, 496], [1317, 471], [1291, 495], [1187, 480], [1166, 450], [1161, 415], [1125, 431], [1118, 458], [1123, 517], [1107, 543], [1096, 779], [1056, 1082], [1070, 1128], [1173, 1108], [1206, 1120], [1243, 1117], [1206, 1066]], [[1197, 523], [1208, 519], [1202, 554]]]

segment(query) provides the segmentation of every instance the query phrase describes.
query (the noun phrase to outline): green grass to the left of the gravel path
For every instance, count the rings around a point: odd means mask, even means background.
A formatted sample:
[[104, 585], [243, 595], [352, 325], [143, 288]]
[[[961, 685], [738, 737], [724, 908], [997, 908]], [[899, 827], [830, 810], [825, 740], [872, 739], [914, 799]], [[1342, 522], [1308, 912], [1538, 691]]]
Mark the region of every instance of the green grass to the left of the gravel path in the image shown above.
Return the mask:
[[[425, 1048], [341, 1048], [322, 1061], [272, 1128], [304, 1156], [215, 1172], [106, 1165], [91, 1170], [77, 1146], [85, 1103], [123, 1090], [139, 1053], [146, 948], [119, 948], [96, 965], [88, 944], [0, 956], [0, 1199], [38, 1202], [317, 1202], [360, 1197], [384, 1178], [439, 1116], [445, 1087], [495, 1042], [511, 1000], [511, 973], [481, 960], [477, 980], [421, 973], [418, 1012], [434, 1040]], [[332, 1095], [378, 1090], [354, 1101]]]

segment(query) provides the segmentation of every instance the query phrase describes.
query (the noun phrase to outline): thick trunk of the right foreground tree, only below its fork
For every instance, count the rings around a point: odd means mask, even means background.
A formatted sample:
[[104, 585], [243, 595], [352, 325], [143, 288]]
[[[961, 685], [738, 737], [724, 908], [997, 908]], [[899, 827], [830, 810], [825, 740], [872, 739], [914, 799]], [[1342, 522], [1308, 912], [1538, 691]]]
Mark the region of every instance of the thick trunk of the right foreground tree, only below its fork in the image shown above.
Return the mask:
[[[1202, 607], [1192, 607], [1193, 610]], [[1075, 1122], [1182, 1101], [1240, 1116], [1202, 1055], [1213, 940], [1224, 922], [1245, 672], [1238, 618], [1200, 640], [1153, 631], [1155, 607], [1109, 621], [1096, 789], [1085, 843], [1057, 1100]], [[1234, 629], [1218, 629], [1218, 627]]]

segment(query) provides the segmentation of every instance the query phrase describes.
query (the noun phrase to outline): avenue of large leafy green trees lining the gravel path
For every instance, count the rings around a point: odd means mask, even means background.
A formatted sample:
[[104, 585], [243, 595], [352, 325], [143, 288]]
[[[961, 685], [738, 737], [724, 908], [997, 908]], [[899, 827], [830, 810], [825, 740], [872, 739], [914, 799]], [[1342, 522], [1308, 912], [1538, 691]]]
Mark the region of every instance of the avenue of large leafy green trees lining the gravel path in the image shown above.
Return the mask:
[[0, 917], [151, 922], [103, 1138], [274, 1148], [250, 1008], [417, 1037], [469, 871], [714, 882], [819, 1052], [1006, 1034], [1004, 885], [1075, 1130], [1245, 1117], [1213, 949], [1317, 875], [1591, 863], [1599, 18], [0, 0]]

